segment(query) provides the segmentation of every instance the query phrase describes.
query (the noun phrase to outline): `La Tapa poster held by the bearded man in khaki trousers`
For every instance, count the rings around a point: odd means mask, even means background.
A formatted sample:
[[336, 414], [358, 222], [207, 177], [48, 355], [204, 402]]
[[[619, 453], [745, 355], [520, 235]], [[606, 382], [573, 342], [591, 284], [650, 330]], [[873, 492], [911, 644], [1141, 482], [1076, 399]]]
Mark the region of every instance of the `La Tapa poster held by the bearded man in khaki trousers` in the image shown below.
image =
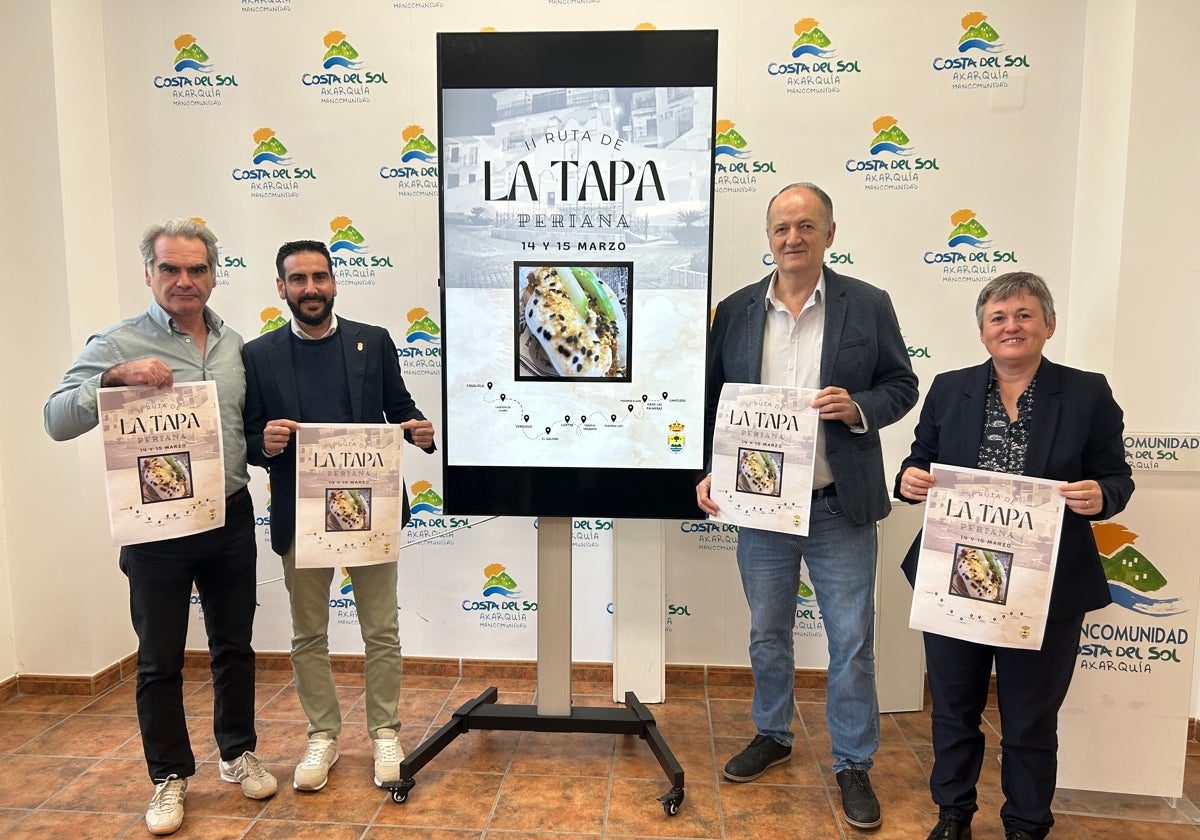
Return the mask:
[[305, 424], [296, 432], [296, 568], [365, 566], [396, 559], [401, 446], [389, 424]]

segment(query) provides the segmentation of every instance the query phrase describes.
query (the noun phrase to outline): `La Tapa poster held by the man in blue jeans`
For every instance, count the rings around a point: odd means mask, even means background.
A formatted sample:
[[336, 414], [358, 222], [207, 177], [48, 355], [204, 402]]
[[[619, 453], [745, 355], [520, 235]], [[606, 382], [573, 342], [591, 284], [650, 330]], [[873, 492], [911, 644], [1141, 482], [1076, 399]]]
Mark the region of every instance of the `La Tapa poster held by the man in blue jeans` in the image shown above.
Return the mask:
[[709, 496], [736, 526], [808, 536], [817, 391], [726, 383], [716, 408]]

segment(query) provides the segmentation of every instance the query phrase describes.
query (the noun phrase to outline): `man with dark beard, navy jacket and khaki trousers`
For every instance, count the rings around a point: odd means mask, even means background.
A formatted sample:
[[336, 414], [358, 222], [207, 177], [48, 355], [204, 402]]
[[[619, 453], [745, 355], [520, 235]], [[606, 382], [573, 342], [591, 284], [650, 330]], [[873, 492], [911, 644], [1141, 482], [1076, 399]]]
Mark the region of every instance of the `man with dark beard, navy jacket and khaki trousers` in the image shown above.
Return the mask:
[[[271, 476], [271, 547], [283, 558], [292, 605], [292, 667], [308, 716], [308, 744], [293, 787], [319, 791], [338, 758], [342, 728], [329, 664], [329, 586], [332, 569], [295, 565], [295, 446], [301, 422], [395, 422], [404, 437], [434, 450], [433, 424], [416, 408], [388, 330], [334, 314], [337, 282], [324, 242], [286, 242], [276, 256], [276, 286], [293, 320], [251, 341], [246, 365], [247, 460]], [[403, 522], [409, 517], [403, 500]], [[373, 740], [374, 781], [400, 778], [400, 623], [396, 563], [349, 570], [366, 650], [367, 731]]]

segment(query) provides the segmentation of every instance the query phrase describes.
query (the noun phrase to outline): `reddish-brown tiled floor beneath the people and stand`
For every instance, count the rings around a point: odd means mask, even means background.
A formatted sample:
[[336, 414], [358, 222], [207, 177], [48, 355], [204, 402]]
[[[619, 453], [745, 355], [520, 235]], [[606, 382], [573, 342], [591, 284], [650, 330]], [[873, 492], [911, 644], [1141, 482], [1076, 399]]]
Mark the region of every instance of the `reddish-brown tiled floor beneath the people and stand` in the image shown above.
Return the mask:
[[[792, 761], [757, 782], [720, 778], [725, 760], [754, 734], [749, 689], [667, 686], [652, 706], [686, 773], [686, 799], [674, 817], [655, 800], [670, 787], [646, 743], [634, 736], [473, 731], [416, 774], [404, 804], [372, 785], [371, 748], [361, 709], [362, 678], [340, 674], [347, 726], [342, 758], [319, 793], [292, 790], [305, 725], [290, 673], [259, 672], [258, 755], [280, 779], [266, 802], [242, 798], [220, 781], [211, 734], [211, 684], [188, 671], [185, 684], [197, 768], [187, 818], [178, 838], [371, 838], [400, 840], [580, 840], [581, 838], [698, 838], [782, 840], [916, 838], [936, 810], [925, 786], [930, 764], [928, 713], [887, 714], [871, 779], [883, 826], [863, 834], [839, 817], [828, 769], [828, 734], [820, 691], [797, 690]], [[490, 684], [503, 703], [532, 703], [529, 680], [408, 677], [401, 697], [401, 740], [412, 749]], [[576, 683], [577, 706], [611, 704], [611, 686]], [[989, 721], [996, 724], [995, 710]], [[994, 732], [989, 743], [995, 744]], [[1189, 744], [1195, 748], [1195, 744]], [[1189, 752], [1196, 750], [1189, 750]], [[982, 784], [977, 840], [1001, 840], [998, 767], [990, 748]], [[1184, 793], [1200, 799], [1200, 755], [1189, 755]], [[0, 835], [6, 838], [144, 838], [151, 786], [142, 761], [133, 684], [103, 696], [18, 695], [0, 704]], [[1060, 815], [1056, 840], [1175, 840], [1200, 838], [1193, 826], [1136, 823]]]

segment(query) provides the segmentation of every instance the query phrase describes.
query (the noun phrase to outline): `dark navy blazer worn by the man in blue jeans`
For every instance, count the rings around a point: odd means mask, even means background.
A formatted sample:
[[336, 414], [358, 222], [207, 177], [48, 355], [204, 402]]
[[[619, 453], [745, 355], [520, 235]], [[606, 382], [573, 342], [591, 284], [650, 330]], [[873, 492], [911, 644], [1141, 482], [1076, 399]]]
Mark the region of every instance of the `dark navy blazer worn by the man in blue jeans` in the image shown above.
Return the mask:
[[[767, 326], [767, 275], [716, 306], [708, 337], [704, 451], [712, 457], [721, 385], [758, 384]], [[845, 388], [858, 403], [868, 431], [826, 420], [824, 448], [838, 499], [851, 522], [877, 522], [892, 512], [880, 430], [917, 404], [917, 374], [900, 335], [888, 293], [828, 266], [824, 269], [824, 338], [821, 388]]]

